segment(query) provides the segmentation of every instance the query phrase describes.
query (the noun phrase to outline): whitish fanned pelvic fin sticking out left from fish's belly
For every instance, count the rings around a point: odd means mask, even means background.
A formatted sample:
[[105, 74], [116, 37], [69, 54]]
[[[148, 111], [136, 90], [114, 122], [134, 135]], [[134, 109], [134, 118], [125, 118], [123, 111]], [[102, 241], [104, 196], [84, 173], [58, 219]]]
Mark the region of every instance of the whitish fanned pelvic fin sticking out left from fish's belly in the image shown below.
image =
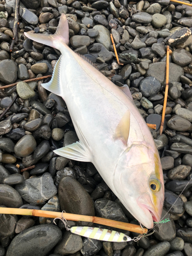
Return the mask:
[[76, 161], [91, 162], [91, 154], [88, 148], [80, 141], [54, 150], [54, 153]]

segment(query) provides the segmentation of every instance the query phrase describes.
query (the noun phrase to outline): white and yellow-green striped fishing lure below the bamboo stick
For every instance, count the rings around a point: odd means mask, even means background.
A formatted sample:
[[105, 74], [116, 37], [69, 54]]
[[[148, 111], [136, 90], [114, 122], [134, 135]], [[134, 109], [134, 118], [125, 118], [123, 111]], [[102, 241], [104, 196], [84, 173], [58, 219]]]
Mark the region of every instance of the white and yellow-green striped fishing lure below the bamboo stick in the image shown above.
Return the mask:
[[74, 234], [78, 234], [79, 236], [101, 241], [127, 242], [132, 240], [130, 237], [127, 237], [125, 234], [121, 232], [105, 228], [103, 229], [98, 227], [72, 227], [69, 230]]

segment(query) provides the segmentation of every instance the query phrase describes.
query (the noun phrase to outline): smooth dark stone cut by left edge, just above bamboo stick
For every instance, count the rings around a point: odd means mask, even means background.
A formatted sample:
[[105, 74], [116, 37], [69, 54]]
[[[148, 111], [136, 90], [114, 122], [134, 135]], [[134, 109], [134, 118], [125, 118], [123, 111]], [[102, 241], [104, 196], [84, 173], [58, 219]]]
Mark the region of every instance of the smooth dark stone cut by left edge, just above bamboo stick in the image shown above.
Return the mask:
[[0, 184], [0, 204], [6, 207], [18, 208], [23, 204], [22, 197], [11, 186]]

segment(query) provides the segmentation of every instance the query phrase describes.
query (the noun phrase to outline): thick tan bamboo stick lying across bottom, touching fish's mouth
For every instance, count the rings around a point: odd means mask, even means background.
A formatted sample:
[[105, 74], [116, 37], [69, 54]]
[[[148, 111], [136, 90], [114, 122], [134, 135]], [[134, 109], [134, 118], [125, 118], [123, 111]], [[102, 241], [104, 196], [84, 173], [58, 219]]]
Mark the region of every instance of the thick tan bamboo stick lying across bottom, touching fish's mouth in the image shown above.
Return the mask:
[[93, 222], [101, 225], [106, 225], [110, 227], [120, 228], [124, 230], [129, 230], [136, 233], [147, 233], [147, 228], [141, 228], [139, 225], [108, 220], [104, 218], [99, 218], [95, 216], [86, 216], [86, 215], [77, 215], [77, 214], [67, 214], [66, 212], [56, 212], [56, 211], [47, 211], [47, 210], [34, 210], [34, 209], [20, 209], [20, 208], [4, 208], [0, 207], [0, 214], [17, 214], [17, 215], [30, 215], [37, 217], [46, 217], [46, 218], [65, 218], [69, 221], [86, 221]]

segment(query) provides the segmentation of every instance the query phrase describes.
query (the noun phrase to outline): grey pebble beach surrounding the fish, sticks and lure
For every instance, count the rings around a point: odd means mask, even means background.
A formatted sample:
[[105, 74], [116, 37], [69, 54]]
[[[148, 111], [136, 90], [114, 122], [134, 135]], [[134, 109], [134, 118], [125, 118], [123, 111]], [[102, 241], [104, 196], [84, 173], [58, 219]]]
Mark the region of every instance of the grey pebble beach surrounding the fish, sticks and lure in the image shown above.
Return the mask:
[[[55, 225], [51, 218], [0, 214], [0, 256], [192, 256], [192, 6], [169, 0], [20, 0], [18, 41], [11, 45], [15, 6], [16, 0], [0, 1], [0, 207], [65, 210], [139, 225], [92, 163], [53, 152], [78, 141], [65, 101], [41, 86], [50, 81], [60, 52], [24, 32], [54, 34], [65, 13], [70, 48], [115, 86], [129, 86], [142, 118], [156, 124], [150, 131], [164, 174], [164, 221], [150, 236], [117, 243], [73, 234], [60, 220]], [[160, 135], [167, 46], [169, 89]], [[68, 224], [138, 236], [91, 222]]]

